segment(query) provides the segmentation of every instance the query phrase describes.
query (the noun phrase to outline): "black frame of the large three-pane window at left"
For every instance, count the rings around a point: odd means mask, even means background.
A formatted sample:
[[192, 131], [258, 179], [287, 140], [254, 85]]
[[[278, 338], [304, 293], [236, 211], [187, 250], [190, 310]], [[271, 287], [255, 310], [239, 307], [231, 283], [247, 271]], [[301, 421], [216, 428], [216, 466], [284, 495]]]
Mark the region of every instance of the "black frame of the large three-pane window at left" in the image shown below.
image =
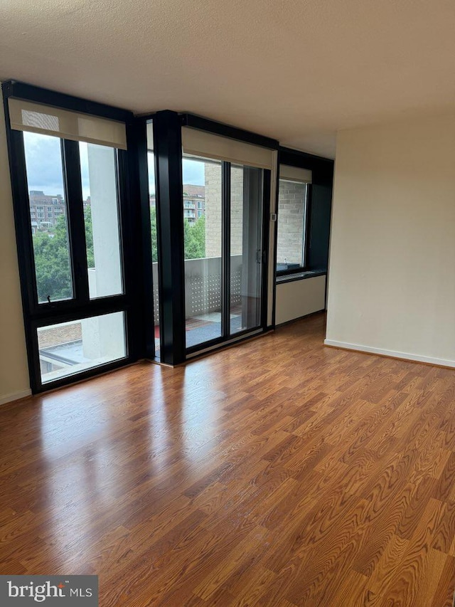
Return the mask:
[[[78, 143], [68, 139], [60, 140], [63, 162], [63, 181], [66, 202], [68, 205], [68, 236], [73, 278], [73, 298], [55, 302], [38, 302], [36, 273], [33, 256], [32, 226], [29, 209], [28, 182], [26, 176], [25, 150], [23, 133], [11, 130], [9, 121], [9, 97], [54, 105], [66, 110], [85, 112], [90, 115], [120, 120], [125, 122], [127, 137], [134, 118], [132, 112], [119, 110], [96, 102], [89, 102], [53, 91], [10, 81], [2, 84], [4, 95], [4, 112], [6, 117], [6, 139], [9, 149], [11, 187], [14, 203], [14, 221], [16, 244], [18, 249], [19, 274], [21, 276], [21, 295], [23, 303], [23, 320], [26, 334], [28, 372], [33, 394], [47, 391], [59, 386], [74, 383], [87, 377], [99, 375], [105, 371], [117, 369], [137, 360], [138, 348], [135, 336], [139, 333], [137, 326], [138, 292], [137, 281], [132, 276], [132, 267], [137, 265], [137, 251], [131, 246], [137, 223], [130, 188], [131, 163], [128, 153], [116, 150], [117, 204], [119, 206], [119, 235], [121, 238], [122, 281], [124, 292], [120, 295], [100, 297], [90, 300], [88, 292], [88, 268], [85, 249], [85, 223], [83, 216], [82, 183], [80, 175], [80, 156]], [[114, 312], [124, 312], [126, 357], [106, 364], [94, 366], [85, 371], [70, 374], [54, 381], [41, 381], [40, 359], [38, 349], [39, 327], [60, 322], [71, 322], [87, 317], [101, 316]]]

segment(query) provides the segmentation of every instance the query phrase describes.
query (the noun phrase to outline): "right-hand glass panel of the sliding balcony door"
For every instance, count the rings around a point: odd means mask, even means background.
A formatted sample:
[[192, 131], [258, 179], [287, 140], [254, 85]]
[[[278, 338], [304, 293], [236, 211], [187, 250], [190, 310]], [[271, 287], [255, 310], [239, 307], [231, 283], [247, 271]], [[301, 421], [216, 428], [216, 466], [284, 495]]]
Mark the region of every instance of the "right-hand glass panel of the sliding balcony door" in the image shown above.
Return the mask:
[[230, 333], [261, 322], [262, 169], [230, 171]]

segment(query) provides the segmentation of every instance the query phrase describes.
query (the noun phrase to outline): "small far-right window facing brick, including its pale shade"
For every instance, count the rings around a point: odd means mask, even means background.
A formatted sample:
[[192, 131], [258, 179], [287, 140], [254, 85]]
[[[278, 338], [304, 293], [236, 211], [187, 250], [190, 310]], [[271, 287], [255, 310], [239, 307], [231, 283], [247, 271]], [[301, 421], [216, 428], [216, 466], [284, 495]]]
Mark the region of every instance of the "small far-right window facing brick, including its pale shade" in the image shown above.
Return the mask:
[[[288, 171], [287, 171], [288, 169]], [[289, 177], [287, 177], [289, 173]], [[278, 188], [277, 273], [306, 268], [309, 171], [280, 167]], [[282, 176], [284, 174], [284, 176]]]

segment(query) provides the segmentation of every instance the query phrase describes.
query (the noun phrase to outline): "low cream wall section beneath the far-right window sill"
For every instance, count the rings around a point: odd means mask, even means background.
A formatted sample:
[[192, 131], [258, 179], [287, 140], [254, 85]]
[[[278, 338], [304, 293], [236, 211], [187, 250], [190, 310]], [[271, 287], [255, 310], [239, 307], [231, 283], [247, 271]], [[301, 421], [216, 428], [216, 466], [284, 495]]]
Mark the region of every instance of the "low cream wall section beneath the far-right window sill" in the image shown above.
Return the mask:
[[326, 276], [277, 284], [275, 322], [282, 324], [326, 307]]

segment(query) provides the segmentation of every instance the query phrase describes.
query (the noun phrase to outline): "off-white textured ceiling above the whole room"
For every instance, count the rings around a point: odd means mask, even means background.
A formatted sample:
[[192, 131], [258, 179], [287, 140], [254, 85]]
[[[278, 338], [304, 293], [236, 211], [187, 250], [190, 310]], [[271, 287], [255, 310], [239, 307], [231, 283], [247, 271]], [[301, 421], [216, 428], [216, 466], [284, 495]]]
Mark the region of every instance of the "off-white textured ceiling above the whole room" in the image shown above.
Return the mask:
[[454, 0], [0, 0], [0, 79], [188, 111], [332, 156], [455, 107]]

